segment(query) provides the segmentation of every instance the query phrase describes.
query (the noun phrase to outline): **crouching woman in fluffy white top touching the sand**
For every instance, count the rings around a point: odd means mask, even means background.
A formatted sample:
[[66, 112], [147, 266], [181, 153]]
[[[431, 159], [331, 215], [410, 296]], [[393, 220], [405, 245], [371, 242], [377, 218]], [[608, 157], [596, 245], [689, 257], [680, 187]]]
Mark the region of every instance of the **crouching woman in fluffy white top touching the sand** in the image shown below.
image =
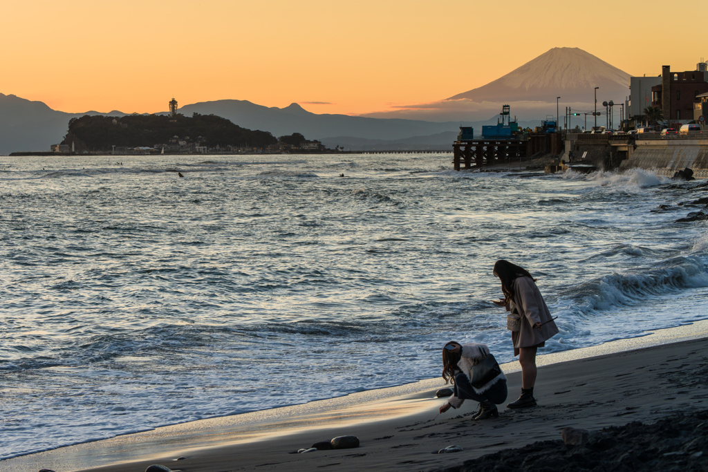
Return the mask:
[[452, 381], [455, 393], [440, 407], [440, 413], [459, 408], [465, 400], [479, 402], [475, 420], [499, 416], [496, 405], [506, 401], [506, 376], [489, 347], [450, 341], [442, 348], [442, 378]]

